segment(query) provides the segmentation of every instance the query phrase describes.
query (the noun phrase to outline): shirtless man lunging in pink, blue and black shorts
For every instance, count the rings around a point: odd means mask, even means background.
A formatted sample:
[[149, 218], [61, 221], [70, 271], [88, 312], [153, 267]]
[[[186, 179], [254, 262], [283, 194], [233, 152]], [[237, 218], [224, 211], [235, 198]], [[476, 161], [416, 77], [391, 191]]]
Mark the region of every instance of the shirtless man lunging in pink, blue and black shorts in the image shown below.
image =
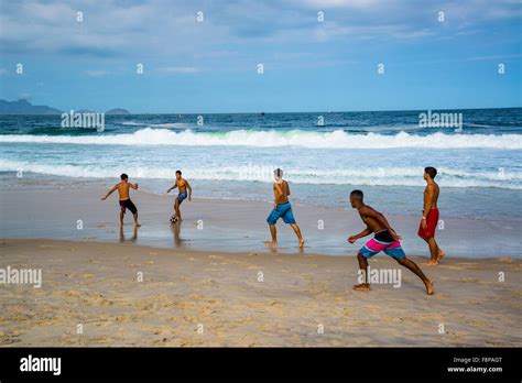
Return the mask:
[[357, 253], [357, 260], [359, 261], [359, 269], [365, 272], [365, 283], [355, 285], [354, 289], [359, 292], [366, 292], [370, 289], [368, 283], [368, 259], [372, 258], [380, 251], [384, 254], [390, 255], [400, 265], [409, 269], [415, 273], [426, 287], [428, 295], [433, 294], [433, 282], [429, 281], [422, 270], [415, 264], [415, 262], [409, 260], [404, 250], [402, 250], [401, 237], [391, 228], [385, 217], [379, 211], [374, 210], [371, 206], [365, 205], [363, 194], [361, 190], [354, 190], [350, 194], [351, 207], [359, 211], [362, 221], [367, 228], [356, 236], [348, 238], [348, 242], [355, 243], [359, 238], [374, 233], [374, 237], [369, 240]]

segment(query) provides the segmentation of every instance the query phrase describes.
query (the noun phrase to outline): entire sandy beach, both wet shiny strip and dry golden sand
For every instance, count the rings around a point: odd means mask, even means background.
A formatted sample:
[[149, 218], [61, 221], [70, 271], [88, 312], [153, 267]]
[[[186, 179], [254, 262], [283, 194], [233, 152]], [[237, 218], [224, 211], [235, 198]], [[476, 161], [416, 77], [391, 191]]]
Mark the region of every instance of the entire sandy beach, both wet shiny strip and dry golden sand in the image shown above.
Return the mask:
[[[172, 196], [138, 192], [143, 226], [134, 232], [127, 217], [120, 232], [117, 199], [100, 201], [104, 192], [2, 188], [0, 269], [41, 270], [42, 286], [0, 285], [1, 346], [521, 344], [522, 261], [485, 258], [487, 239], [503, 230], [496, 226], [509, 222], [448, 219], [452, 230], [439, 237], [448, 255], [437, 267], [423, 264], [424, 247], [409, 251], [435, 281], [433, 296], [383, 254], [370, 267], [402, 270], [400, 285], [360, 293], [351, 286], [363, 242], [349, 245], [346, 237], [361, 223], [348, 208], [296, 206], [307, 240], [300, 252], [283, 225], [281, 244], [263, 244], [265, 203], [195, 199], [183, 205], [180, 227], [168, 223]], [[327, 230], [317, 228], [320, 219]], [[416, 217], [390, 220], [405, 243], [418, 241]]]

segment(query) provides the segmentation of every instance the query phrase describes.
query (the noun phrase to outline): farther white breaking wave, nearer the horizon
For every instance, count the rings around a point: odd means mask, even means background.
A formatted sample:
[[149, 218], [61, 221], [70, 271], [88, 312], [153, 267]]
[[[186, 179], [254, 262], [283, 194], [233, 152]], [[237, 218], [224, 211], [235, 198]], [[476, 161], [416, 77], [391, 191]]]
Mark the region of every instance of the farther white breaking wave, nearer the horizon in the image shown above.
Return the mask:
[[173, 132], [167, 129], [145, 128], [128, 134], [91, 135], [0, 135], [0, 143], [55, 143], [85, 145], [174, 145], [174, 146], [298, 146], [308, 149], [497, 149], [521, 150], [522, 134], [446, 134], [427, 135], [399, 132], [394, 135], [378, 133], [350, 134], [333, 132], [252, 131], [194, 132], [189, 129]]

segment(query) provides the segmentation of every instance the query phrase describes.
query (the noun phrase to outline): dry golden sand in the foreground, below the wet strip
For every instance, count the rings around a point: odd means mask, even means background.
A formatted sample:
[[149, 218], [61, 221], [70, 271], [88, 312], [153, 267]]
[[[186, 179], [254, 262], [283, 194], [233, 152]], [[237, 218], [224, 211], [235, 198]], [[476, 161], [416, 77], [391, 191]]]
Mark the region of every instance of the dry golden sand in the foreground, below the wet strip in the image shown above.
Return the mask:
[[[43, 272], [41, 288], [0, 285], [2, 347], [522, 344], [519, 260], [448, 258], [425, 269], [427, 296], [406, 270], [400, 288], [351, 291], [354, 256], [30, 239], [0, 249], [0, 267]], [[385, 255], [370, 266], [399, 267]]]

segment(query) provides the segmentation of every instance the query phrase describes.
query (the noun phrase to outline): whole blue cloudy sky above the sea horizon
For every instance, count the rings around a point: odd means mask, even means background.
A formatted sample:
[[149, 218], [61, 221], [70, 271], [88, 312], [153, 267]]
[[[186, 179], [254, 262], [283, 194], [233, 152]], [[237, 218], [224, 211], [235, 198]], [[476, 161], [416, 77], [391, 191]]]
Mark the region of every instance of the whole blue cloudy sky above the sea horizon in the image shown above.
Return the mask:
[[522, 107], [520, 0], [0, 7], [9, 101], [135, 113]]

